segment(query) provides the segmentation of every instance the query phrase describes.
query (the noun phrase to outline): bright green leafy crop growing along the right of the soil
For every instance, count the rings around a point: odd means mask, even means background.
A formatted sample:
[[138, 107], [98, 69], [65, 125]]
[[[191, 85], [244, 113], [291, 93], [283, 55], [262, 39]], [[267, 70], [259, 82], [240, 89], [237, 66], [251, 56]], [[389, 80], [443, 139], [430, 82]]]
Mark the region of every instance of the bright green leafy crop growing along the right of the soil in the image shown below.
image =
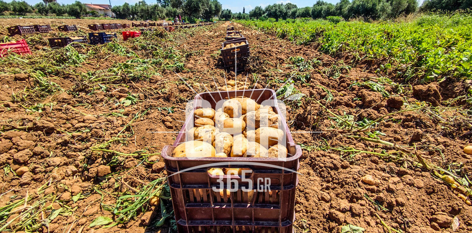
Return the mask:
[[299, 44], [315, 43], [336, 56], [376, 60], [378, 71], [422, 82], [436, 78], [472, 78], [472, 16], [424, 15], [412, 22], [340, 22], [327, 20], [241, 20], [240, 23]]

